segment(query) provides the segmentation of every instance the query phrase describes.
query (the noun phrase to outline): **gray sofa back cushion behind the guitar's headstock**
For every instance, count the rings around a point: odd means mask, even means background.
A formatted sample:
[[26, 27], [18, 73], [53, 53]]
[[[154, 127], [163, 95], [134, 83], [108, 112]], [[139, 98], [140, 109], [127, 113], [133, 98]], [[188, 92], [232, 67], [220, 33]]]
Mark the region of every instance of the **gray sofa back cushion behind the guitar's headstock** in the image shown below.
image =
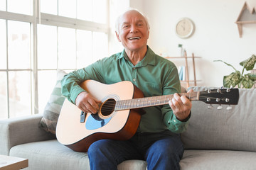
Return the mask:
[[[193, 88], [204, 91], [206, 87]], [[230, 149], [256, 152], [256, 89], [239, 89], [237, 106], [213, 109], [192, 101], [188, 130], [181, 135], [186, 149]]]

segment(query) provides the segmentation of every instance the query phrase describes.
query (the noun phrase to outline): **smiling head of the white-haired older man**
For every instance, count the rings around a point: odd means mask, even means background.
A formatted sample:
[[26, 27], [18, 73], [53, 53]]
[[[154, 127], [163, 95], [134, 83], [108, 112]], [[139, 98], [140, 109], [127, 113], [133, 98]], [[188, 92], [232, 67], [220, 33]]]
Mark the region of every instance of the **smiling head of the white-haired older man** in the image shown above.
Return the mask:
[[122, 42], [126, 52], [146, 50], [149, 38], [149, 26], [141, 13], [135, 10], [127, 11], [119, 18], [117, 39]]

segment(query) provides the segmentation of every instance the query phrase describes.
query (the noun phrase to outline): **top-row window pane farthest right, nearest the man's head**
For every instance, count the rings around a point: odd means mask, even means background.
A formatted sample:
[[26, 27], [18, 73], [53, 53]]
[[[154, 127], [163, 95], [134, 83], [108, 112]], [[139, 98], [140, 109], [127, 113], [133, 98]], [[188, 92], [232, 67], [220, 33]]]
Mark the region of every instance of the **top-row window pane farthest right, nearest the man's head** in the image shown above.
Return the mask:
[[93, 1], [93, 21], [107, 23], [107, 0]]

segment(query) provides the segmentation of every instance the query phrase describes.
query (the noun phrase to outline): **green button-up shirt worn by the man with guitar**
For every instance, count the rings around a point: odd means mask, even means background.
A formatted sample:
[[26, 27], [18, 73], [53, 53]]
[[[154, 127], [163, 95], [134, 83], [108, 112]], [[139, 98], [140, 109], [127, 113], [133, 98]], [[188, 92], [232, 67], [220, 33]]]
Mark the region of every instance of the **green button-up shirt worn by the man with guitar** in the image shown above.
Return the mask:
[[[178, 71], [173, 62], [156, 55], [149, 47], [142, 61], [133, 65], [123, 50], [115, 55], [99, 60], [88, 67], [78, 69], [66, 75], [61, 81], [63, 96], [75, 103], [75, 98], [82, 89], [78, 84], [86, 79], [93, 79], [104, 84], [119, 81], [132, 81], [145, 97], [162, 96], [181, 92]], [[174, 115], [169, 104], [144, 108], [139, 132], [181, 133], [186, 130], [188, 121], [181, 122]]]

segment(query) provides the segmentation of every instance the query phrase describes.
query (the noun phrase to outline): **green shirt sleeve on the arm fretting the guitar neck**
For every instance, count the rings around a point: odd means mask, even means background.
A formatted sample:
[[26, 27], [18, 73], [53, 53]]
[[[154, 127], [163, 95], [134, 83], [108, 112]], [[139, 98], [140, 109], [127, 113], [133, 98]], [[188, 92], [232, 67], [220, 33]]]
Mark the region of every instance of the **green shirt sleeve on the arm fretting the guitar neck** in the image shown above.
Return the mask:
[[[176, 67], [171, 69], [171, 72], [167, 75], [164, 83], [164, 95], [181, 93], [181, 84], [178, 79], [178, 70]], [[166, 104], [162, 108], [164, 123], [171, 132], [181, 133], [186, 131], [188, 127], [188, 120], [190, 115], [185, 122], [182, 122], [176, 118], [169, 104]]]

